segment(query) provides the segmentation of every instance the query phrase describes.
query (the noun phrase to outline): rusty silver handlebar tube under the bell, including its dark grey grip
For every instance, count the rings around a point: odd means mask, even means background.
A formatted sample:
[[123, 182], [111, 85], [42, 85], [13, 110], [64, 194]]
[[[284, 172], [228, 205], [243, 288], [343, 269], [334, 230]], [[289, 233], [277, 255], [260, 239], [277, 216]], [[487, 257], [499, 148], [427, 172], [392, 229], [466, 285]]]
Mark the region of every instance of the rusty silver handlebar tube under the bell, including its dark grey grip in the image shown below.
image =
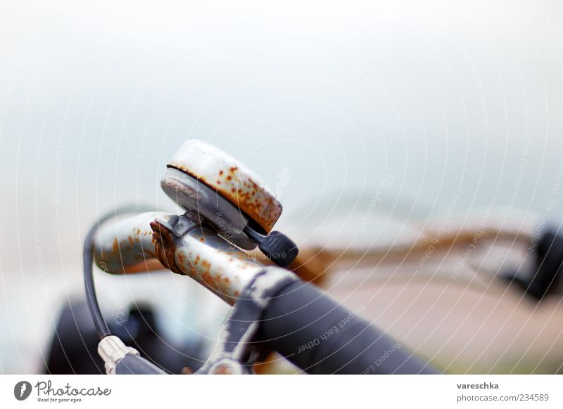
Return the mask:
[[[170, 270], [189, 275], [229, 304], [269, 268], [197, 223], [185, 222], [181, 234], [174, 235], [178, 225], [172, 221], [177, 223], [177, 216], [146, 213], [102, 226], [94, 248], [96, 264], [108, 273], [126, 273], [139, 271], [143, 263], [150, 269], [146, 259], [158, 257]], [[165, 228], [169, 225], [172, 232]], [[315, 374], [434, 373], [355, 311], [301, 280], [268, 300], [258, 341]]]

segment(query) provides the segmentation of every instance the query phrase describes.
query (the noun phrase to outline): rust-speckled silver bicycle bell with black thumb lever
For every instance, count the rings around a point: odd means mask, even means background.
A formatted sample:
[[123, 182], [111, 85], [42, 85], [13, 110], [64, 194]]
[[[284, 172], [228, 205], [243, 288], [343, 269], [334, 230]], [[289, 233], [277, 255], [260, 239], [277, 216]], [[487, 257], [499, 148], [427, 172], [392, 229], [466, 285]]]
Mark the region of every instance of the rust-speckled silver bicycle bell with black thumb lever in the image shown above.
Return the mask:
[[298, 254], [286, 235], [272, 231], [281, 203], [251, 169], [204, 141], [186, 141], [160, 182], [180, 207], [197, 212], [217, 234], [242, 249], [258, 248], [280, 266]]

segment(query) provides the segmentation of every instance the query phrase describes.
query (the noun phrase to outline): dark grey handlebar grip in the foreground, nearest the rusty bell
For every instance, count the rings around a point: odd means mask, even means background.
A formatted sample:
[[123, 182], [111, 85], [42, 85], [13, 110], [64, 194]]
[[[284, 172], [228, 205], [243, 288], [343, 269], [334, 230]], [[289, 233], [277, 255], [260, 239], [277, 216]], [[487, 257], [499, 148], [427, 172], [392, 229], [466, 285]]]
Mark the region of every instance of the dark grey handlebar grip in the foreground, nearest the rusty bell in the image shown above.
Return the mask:
[[356, 313], [302, 281], [270, 300], [257, 338], [310, 374], [436, 373]]

